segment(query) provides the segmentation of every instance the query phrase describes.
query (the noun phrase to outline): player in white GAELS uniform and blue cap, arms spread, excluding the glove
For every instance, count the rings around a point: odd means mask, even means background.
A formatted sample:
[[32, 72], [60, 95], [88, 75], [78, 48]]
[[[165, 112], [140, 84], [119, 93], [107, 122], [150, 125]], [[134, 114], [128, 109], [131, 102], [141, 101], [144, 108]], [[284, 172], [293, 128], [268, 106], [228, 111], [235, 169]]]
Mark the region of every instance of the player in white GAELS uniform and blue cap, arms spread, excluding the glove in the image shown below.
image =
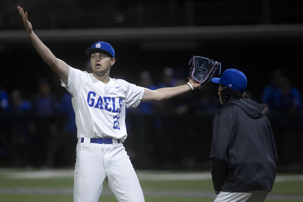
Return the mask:
[[200, 84], [190, 79], [181, 86], [149, 90], [110, 78], [109, 72], [116, 61], [115, 51], [103, 41], [85, 51], [93, 73], [72, 68], [56, 58], [39, 40], [28, 22], [27, 12], [20, 6], [17, 9], [36, 51], [72, 96], [78, 129], [74, 201], [98, 201], [104, 180], [119, 202], [144, 201], [138, 178], [122, 144], [127, 137], [125, 108], [137, 107], [140, 102], [166, 100], [199, 88]]

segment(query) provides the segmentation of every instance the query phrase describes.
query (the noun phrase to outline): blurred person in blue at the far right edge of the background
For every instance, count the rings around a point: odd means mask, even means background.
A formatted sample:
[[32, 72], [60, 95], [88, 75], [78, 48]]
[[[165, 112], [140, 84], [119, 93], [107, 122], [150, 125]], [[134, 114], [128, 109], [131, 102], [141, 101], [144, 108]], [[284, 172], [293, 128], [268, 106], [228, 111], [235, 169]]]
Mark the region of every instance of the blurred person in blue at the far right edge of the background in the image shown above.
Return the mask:
[[[301, 143], [302, 98], [297, 88], [291, 85], [288, 78], [281, 78], [281, 87], [275, 97], [274, 114], [278, 118], [276, 124], [281, 138], [281, 160], [285, 163], [302, 163]], [[274, 115], [273, 114], [273, 115]]]

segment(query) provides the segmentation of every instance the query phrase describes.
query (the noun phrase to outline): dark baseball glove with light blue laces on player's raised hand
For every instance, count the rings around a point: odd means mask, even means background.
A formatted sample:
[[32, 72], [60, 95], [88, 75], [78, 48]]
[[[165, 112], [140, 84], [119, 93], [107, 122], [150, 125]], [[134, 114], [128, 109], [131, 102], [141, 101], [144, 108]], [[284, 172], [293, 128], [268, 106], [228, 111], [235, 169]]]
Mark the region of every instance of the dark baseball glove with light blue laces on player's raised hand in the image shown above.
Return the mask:
[[221, 63], [210, 60], [208, 58], [193, 56], [188, 65], [191, 64], [188, 81], [193, 78], [196, 82], [200, 83], [199, 88], [202, 88], [211, 81], [215, 76], [216, 71], [221, 73]]

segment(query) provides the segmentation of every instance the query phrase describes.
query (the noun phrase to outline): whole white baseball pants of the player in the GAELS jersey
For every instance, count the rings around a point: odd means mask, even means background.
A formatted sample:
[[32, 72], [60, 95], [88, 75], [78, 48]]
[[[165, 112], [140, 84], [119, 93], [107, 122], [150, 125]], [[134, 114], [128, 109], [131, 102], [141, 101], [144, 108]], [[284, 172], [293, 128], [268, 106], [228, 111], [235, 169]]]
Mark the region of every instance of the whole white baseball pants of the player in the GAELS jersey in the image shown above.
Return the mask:
[[122, 143], [83, 143], [78, 138], [74, 202], [96, 202], [106, 180], [118, 202], [144, 202], [138, 177]]

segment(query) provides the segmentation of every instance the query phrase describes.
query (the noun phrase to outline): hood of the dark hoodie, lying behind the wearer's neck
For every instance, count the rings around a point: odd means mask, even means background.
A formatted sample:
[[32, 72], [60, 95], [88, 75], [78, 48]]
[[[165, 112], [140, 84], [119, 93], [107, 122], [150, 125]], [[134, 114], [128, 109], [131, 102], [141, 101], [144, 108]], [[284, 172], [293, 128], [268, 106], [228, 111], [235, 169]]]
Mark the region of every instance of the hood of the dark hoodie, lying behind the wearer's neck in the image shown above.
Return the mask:
[[225, 104], [236, 104], [251, 118], [260, 118], [263, 115], [265, 104], [259, 104], [254, 101], [242, 98], [239, 100], [229, 100]]

